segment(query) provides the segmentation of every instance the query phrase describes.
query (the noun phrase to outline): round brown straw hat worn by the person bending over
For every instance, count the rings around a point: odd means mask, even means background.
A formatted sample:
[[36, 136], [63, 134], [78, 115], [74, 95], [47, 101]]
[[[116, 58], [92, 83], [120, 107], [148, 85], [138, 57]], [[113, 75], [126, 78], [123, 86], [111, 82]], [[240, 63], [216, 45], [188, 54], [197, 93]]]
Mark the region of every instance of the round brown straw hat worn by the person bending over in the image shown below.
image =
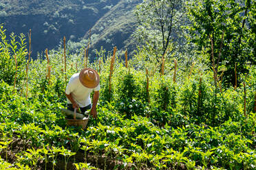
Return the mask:
[[96, 88], [100, 83], [100, 76], [94, 69], [83, 69], [79, 73], [79, 80], [87, 88]]

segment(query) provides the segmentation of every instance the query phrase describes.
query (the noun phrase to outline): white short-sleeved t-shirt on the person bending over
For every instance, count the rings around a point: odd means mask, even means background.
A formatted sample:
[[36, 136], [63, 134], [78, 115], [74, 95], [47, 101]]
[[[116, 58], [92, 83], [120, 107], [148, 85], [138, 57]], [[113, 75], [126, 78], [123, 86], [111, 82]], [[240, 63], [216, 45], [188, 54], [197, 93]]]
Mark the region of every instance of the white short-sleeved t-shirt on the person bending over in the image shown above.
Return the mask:
[[[79, 80], [79, 73], [75, 73], [70, 78], [70, 82], [67, 84], [65, 93], [67, 95], [72, 93], [72, 97], [74, 101], [76, 101], [76, 104], [78, 104], [79, 107], [84, 108], [85, 106], [91, 104], [90, 93], [92, 93], [92, 90], [100, 90], [100, 84], [98, 84], [96, 88], [87, 88], [81, 84]], [[72, 104], [69, 99], [67, 99], [67, 104]]]

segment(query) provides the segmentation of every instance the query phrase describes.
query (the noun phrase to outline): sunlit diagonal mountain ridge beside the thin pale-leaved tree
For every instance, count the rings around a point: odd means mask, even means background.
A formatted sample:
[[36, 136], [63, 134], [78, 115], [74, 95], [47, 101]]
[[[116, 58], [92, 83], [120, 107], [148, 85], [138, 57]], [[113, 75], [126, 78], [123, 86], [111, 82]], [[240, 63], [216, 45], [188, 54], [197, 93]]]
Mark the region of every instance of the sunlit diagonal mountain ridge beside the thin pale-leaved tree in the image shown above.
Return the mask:
[[[133, 10], [141, 0], [118, 2], [92, 27], [92, 47], [111, 50], [116, 46], [121, 51], [133, 51], [136, 48], [131, 34], [135, 31], [136, 21]], [[90, 32], [84, 38], [89, 38]]]

